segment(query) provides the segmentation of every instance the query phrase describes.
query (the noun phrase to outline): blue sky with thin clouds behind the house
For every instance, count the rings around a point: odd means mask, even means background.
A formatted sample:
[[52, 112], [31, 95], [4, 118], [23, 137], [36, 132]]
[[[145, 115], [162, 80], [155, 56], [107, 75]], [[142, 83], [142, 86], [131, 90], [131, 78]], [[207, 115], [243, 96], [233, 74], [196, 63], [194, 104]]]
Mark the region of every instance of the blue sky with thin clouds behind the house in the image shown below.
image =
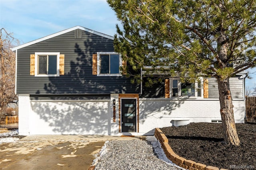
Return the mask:
[[[13, 33], [21, 44], [74, 26], [82, 26], [110, 36], [120, 25], [106, 0], [0, 0], [0, 28]], [[256, 69], [249, 70], [256, 84]]]

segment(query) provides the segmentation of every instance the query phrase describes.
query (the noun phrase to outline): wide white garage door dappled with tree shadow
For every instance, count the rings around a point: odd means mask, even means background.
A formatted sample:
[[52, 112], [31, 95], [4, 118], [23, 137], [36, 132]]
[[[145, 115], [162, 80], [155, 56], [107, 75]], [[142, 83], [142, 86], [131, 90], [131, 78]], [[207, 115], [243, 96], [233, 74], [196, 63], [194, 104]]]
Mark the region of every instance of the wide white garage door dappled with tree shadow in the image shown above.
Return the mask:
[[109, 101], [31, 101], [30, 134], [110, 134]]

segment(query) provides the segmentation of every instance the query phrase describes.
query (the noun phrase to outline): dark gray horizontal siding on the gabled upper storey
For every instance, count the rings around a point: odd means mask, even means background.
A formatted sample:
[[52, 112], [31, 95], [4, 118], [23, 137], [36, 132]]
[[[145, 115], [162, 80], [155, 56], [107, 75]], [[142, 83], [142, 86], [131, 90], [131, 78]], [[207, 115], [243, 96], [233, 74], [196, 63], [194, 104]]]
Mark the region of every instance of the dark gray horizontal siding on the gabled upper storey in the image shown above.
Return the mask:
[[[92, 75], [92, 54], [114, 51], [113, 40], [82, 31], [82, 39], [74, 32], [18, 49], [17, 94], [110, 94], [140, 93], [140, 85], [121, 77]], [[30, 75], [30, 54], [60, 52], [65, 55], [65, 75], [35, 77]]]

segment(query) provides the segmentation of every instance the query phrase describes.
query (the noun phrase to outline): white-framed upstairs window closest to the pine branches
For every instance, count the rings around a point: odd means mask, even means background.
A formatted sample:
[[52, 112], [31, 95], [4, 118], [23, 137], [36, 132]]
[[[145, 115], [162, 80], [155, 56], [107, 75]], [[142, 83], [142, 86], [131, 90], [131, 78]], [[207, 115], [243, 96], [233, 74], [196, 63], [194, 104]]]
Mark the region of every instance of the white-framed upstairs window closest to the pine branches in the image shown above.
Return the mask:
[[97, 52], [97, 75], [121, 76], [122, 59], [116, 52]]

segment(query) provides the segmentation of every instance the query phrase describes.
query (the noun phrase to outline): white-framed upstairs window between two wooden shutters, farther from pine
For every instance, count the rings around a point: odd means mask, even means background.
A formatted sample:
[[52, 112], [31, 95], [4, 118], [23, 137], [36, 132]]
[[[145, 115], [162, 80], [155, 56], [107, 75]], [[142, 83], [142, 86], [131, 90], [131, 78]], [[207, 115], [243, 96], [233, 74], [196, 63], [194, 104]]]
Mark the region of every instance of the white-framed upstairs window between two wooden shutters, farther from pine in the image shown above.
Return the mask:
[[35, 53], [35, 76], [60, 76], [59, 62], [59, 52]]

